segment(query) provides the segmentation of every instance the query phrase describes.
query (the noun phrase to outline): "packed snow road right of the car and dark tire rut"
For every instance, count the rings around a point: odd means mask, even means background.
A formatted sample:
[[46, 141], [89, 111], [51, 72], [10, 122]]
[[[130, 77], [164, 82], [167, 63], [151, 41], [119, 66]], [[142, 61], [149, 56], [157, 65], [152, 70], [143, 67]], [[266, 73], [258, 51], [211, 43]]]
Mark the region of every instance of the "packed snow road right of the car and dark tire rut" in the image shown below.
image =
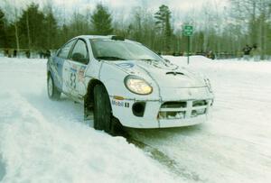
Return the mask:
[[[186, 61], [167, 59], [180, 65]], [[215, 103], [209, 123], [136, 130], [133, 138], [167, 154], [195, 181], [270, 182], [271, 62], [194, 57], [190, 67], [212, 83]]]

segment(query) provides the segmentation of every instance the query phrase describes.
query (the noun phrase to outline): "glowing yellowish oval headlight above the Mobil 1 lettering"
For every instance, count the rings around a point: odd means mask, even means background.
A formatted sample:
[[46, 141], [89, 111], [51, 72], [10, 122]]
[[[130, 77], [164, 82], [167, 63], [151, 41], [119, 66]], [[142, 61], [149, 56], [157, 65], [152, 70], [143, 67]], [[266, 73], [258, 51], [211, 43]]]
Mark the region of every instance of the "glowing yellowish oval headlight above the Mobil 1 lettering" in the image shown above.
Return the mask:
[[153, 92], [151, 87], [143, 78], [136, 76], [127, 76], [125, 78], [125, 85], [128, 90], [139, 95], [148, 95]]

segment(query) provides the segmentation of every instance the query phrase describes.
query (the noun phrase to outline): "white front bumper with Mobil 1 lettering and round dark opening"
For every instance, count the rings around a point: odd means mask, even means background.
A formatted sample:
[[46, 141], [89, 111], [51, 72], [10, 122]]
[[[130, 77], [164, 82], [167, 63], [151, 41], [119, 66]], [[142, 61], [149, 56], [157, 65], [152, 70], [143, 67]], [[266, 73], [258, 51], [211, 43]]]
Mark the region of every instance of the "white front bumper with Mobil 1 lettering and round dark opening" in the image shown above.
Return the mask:
[[[171, 98], [171, 100], [145, 100], [135, 99], [116, 100], [110, 97], [113, 114], [120, 123], [132, 128], [168, 128], [201, 124], [207, 121], [213, 102], [212, 97], [187, 100]], [[196, 101], [205, 101], [202, 105], [194, 105]], [[143, 116], [133, 113], [133, 105], [145, 103]], [[164, 104], [185, 104], [166, 106]], [[197, 111], [201, 112], [197, 114]]]

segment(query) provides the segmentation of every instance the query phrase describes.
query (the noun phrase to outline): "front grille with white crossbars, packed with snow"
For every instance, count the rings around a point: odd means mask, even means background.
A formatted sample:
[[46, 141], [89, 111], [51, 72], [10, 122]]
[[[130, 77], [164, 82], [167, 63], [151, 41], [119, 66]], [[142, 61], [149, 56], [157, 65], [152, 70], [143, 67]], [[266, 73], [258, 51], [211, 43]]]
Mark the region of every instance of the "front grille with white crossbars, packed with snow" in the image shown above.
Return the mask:
[[161, 105], [159, 119], [184, 119], [206, 114], [208, 110], [207, 100], [173, 101]]

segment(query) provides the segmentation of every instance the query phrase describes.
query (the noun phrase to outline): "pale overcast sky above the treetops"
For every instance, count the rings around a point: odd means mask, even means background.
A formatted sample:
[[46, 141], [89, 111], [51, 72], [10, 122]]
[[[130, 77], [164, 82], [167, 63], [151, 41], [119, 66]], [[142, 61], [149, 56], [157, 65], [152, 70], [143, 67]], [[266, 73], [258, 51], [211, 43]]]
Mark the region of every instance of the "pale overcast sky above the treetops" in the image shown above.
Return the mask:
[[[92, 12], [98, 3], [106, 5], [115, 18], [128, 17], [136, 6], [145, 7], [154, 13], [158, 11], [160, 5], [168, 5], [173, 12], [175, 23], [181, 22], [180, 19], [187, 13], [195, 17], [195, 14], [201, 12], [202, 6], [220, 12], [229, 5], [229, 0], [0, 0], [0, 5], [1, 2], [2, 5], [7, 3], [16, 7], [25, 7], [31, 2], [39, 4], [41, 8], [50, 4], [58, 14], [67, 18], [74, 11], [81, 14], [85, 14], [87, 10]], [[201, 14], [198, 16], [201, 17]]]

